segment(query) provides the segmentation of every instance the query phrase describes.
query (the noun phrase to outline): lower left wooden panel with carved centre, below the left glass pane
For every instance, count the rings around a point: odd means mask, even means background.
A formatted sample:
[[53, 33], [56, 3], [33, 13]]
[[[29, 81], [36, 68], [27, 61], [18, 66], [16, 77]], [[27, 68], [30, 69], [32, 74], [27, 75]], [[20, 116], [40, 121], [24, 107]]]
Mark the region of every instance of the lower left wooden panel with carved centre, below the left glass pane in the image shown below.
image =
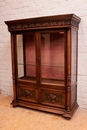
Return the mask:
[[30, 102], [38, 102], [38, 91], [35, 88], [29, 88], [26, 86], [17, 87], [18, 99], [26, 100]]

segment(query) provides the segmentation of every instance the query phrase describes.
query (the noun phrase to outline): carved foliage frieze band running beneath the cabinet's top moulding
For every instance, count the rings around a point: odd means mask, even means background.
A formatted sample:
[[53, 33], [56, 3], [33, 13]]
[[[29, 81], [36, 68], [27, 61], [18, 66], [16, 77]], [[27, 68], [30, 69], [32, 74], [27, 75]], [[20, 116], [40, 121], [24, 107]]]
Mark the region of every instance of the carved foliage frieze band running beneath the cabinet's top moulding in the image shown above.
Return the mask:
[[47, 28], [47, 27], [57, 27], [57, 26], [65, 26], [72, 25], [78, 27], [78, 23], [76, 21], [71, 21], [71, 19], [60, 19], [60, 20], [46, 20], [46, 21], [37, 21], [37, 22], [23, 22], [23, 23], [12, 23], [8, 25], [9, 31], [17, 31], [17, 30], [28, 30], [35, 28]]

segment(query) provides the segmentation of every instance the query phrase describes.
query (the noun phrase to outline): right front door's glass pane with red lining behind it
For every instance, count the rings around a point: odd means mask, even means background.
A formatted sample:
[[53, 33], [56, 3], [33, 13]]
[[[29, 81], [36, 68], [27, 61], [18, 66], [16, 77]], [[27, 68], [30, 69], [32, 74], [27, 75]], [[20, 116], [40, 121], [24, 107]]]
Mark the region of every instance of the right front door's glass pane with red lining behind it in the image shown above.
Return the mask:
[[64, 32], [41, 34], [42, 82], [64, 83]]

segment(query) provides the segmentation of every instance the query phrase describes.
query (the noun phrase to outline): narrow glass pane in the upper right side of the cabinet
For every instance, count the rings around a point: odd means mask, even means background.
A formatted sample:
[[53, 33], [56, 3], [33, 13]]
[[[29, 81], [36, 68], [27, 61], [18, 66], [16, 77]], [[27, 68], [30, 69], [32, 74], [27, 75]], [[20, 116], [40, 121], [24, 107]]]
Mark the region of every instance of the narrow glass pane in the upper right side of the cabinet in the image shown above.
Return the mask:
[[72, 30], [71, 84], [76, 82], [76, 39], [77, 32]]

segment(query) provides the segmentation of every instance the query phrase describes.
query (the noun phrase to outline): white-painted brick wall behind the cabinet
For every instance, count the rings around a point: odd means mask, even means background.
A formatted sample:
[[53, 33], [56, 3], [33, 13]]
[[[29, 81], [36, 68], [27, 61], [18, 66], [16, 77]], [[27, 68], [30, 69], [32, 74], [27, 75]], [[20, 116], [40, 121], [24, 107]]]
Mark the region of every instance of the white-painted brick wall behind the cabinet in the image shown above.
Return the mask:
[[10, 33], [4, 21], [74, 13], [79, 25], [78, 104], [87, 109], [87, 0], [0, 0], [0, 93], [12, 95]]

